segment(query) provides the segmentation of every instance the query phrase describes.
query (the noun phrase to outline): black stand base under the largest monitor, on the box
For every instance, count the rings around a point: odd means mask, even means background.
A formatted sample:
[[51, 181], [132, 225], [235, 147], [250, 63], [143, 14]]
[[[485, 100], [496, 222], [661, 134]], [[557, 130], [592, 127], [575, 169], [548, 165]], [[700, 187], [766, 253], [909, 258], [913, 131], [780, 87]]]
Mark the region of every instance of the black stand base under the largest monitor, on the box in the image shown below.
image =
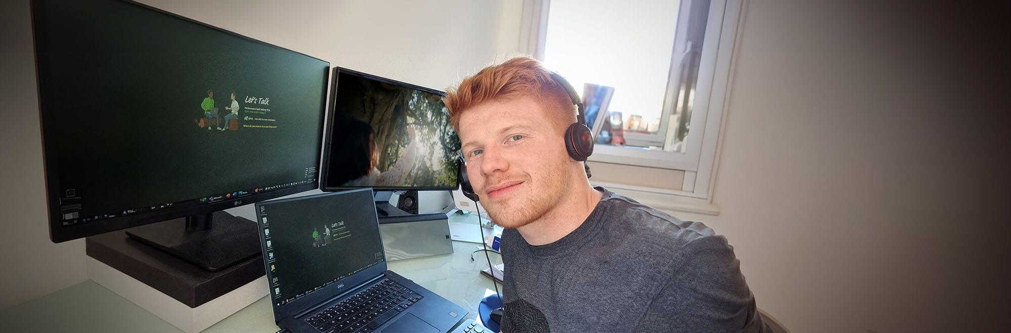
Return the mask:
[[223, 211], [134, 227], [126, 234], [210, 271], [263, 255], [256, 222]]

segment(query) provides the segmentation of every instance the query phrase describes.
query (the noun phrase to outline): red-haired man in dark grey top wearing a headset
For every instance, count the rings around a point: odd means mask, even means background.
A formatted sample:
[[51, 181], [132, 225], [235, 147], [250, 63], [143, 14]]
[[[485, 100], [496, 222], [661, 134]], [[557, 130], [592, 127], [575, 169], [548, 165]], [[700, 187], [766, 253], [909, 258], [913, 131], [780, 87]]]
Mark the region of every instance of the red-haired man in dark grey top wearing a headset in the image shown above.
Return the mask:
[[505, 228], [503, 332], [761, 332], [726, 238], [590, 186], [566, 149], [576, 108], [536, 60], [445, 98], [474, 194]]

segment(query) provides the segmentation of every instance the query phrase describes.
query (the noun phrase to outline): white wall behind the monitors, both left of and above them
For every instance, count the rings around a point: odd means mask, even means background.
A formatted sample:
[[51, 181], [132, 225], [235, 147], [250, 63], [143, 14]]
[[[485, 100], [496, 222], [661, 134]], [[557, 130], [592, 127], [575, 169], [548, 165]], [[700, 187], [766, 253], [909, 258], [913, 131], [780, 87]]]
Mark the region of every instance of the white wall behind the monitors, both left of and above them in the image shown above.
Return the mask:
[[[501, 1], [143, 0], [331, 63], [445, 89], [495, 59]], [[0, 4], [0, 309], [87, 280], [84, 241], [49, 240], [28, 1]], [[101, 112], [102, 110], [95, 110]], [[240, 212], [241, 214], [242, 212]]]

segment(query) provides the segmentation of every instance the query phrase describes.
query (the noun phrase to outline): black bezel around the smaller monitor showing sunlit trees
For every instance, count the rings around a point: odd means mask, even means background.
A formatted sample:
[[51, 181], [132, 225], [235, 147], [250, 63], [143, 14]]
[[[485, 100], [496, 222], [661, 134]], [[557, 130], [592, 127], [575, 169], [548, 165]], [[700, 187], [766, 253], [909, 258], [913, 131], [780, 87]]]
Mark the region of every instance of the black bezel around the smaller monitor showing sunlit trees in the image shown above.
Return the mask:
[[[442, 97], [446, 97], [446, 92], [444, 92], [444, 91], [440, 91], [440, 90], [436, 90], [436, 89], [432, 89], [432, 88], [426, 88], [426, 87], [422, 87], [422, 86], [418, 86], [418, 85], [412, 85], [412, 84], [409, 84], [409, 83], [406, 83], [406, 82], [401, 82], [401, 81], [396, 81], [396, 80], [393, 80], [393, 79], [383, 78], [383, 77], [380, 77], [380, 76], [375, 76], [375, 75], [371, 75], [371, 74], [367, 74], [367, 73], [362, 73], [362, 72], [351, 70], [351, 69], [347, 69], [347, 68], [334, 67], [334, 69], [332, 70], [331, 76], [330, 76], [331, 77], [331, 79], [330, 79], [331, 80], [331, 84], [330, 84], [330, 99], [331, 100], [330, 100], [330, 107], [327, 110], [327, 129], [325, 130], [326, 138], [324, 139], [324, 145], [323, 145], [323, 166], [320, 168], [320, 174], [319, 174], [319, 190], [320, 191], [324, 191], [324, 192], [333, 192], [333, 191], [357, 190], [357, 189], [365, 189], [365, 188], [371, 188], [371, 189], [373, 189], [375, 191], [447, 191], [447, 190], [448, 191], [452, 191], [452, 190], [456, 190], [456, 189], [460, 188], [460, 178], [459, 178], [459, 175], [457, 175], [457, 177], [456, 177], [456, 184], [454, 186], [451, 186], [451, 187], [382, 187], [382, 186], [378, 186], [378, 187], [367, 187], [367, 186], [352, 186], [352, 187], [347, 187], [347, 186], [328, 186], [327, 182], [329, 181], [329, 174], [330, 174], [329, 168], [330, 168], [330, 158], [331, 158], [331, 155], [330, 155], [330, 150], [331, 149], [330, 149], [330, 147], [333, 144], [332, 139], [334, 137], [334, 121], [335, 121], [335, 118], [337, 118], [337, 105], [336, 105], [336, 103], [335, 103], [334, 100], [337, 98], [337, 89], [338, 89], [337, 84], [338, 84], [338, 80], [340, 79], [340, 74], [341, 73], [346, 73], [346, 74], [349, 74], [349, 75], [352, 75], [352, 76], [356, 76], [356, 77], [360, 77], [360, 78], [365, 78], [365, 79], [369, 79], [369, 80], [380, 81], [380, 82], [384, 82], [384, 83], [395, 85], [395, 86], [405, 87], [405, 88], [409, 88], [409, 89], [413, 89], [413, 90], [420, 90], [420, 91], [423, 91], [423, 92], [426, 92], [426, 93], [432, 93], [432, 94], [436, 94], [436, 95], [439, 95], [439, 96], [442, 96]], [[455, 131], [456, 129], [454, 128], [453, 130]], [[459, 134], [457, 134], [457, 135], [459, 135]], [[459, 169], [460, 169], [460, 164], [459, 164], [459, 161], [457, 161], [456, 170], [459, 170]]]

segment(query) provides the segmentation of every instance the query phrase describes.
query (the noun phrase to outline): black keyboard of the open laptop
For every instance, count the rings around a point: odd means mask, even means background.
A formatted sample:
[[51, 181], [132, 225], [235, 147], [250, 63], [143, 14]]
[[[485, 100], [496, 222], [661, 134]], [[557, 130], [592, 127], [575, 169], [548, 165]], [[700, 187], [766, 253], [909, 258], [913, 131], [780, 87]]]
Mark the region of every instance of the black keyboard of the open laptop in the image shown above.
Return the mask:
[[421, 299], [400, 284], [383, 279], [305, 322], [325, 333], [371, 332]]

